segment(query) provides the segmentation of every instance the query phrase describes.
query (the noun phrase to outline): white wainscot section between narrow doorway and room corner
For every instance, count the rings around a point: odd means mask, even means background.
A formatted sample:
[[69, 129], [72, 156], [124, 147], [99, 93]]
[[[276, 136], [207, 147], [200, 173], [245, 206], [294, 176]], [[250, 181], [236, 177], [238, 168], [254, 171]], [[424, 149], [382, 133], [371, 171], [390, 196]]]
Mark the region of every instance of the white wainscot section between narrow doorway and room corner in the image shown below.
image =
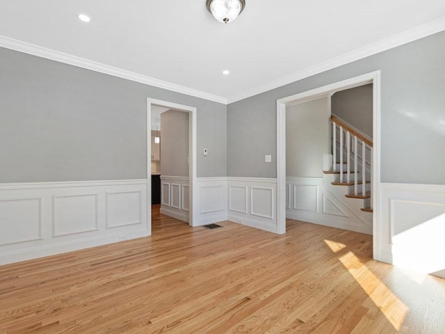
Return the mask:
[[227, 220], [226, 177], [198, 177], [197, 191], [199, 202], [196, 208], [199, 215], [193, 225], [206, 225]]

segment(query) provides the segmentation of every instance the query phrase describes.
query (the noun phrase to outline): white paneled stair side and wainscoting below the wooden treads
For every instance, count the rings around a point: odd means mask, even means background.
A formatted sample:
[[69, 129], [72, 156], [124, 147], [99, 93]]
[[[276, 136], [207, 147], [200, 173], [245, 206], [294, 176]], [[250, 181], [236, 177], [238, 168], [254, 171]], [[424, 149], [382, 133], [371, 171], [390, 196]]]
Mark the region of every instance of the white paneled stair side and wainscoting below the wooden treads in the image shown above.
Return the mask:
[[286, 217], [372, 234], [372, 215], [362, 200], [346, 198], [348, 186], [333, 186], [337, 175], [286, 178]]

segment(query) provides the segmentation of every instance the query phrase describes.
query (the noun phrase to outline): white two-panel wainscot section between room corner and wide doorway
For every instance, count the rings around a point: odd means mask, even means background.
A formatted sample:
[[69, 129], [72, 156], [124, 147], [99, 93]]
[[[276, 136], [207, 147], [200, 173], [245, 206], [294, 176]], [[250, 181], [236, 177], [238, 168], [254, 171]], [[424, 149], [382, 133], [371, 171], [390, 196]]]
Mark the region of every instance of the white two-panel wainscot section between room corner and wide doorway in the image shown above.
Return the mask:
[[277, 232], [277, 180], [257, 177], [228, 177], [229, 221]]

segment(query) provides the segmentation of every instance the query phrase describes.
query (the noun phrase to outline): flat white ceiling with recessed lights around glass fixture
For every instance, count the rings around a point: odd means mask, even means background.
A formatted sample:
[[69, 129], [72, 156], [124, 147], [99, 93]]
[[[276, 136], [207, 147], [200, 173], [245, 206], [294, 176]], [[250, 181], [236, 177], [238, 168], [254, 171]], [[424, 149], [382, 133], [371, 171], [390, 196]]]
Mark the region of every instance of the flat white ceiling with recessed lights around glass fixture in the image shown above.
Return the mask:
[[444, 17], [444, 0], [246, 0], [229, 24], [205, 0], [0, 0], [0, 35], [233, 101]]

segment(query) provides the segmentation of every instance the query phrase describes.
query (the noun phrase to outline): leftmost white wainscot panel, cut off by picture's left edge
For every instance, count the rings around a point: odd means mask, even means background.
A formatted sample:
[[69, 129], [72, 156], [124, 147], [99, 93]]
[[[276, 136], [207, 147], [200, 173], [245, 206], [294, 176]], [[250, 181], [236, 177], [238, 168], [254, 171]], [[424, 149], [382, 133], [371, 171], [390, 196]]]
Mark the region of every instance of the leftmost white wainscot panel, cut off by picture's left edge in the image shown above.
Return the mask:
[[42, 197], [0, 198], [0, 246], [41, 239]]

